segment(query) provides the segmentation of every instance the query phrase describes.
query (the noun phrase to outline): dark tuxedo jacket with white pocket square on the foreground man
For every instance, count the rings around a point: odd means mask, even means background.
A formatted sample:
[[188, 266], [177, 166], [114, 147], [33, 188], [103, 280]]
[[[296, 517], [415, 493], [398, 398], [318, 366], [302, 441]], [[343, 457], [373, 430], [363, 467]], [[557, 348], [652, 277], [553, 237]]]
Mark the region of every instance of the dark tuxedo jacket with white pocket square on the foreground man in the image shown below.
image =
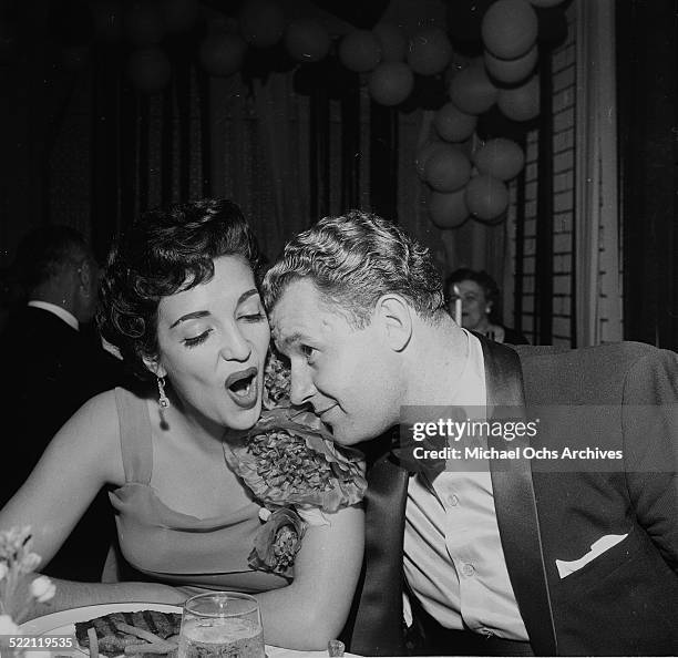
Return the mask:
[[[540, 432], [533, 445], [624, 454], [614, 472], [537, 471], [525, 460], [506, 470], [491, 462], [506, 566], [533, 650], [678, 654], [678, 357], [641, 343], [557, 351], [481, 340], [489, 413], [525, 403], [576, 405], [583, 411], [577, 418], [590, 422], [558, 423]], [[586, 407], [594, 404], [600, 407]], [[404, 652], [409, 476], [387, 454], [368, 473], [366, 561], [345, 631], [353, 652]], [[559, 577], [556, 559], [578, 559], [605, 535], [627, 536]]]

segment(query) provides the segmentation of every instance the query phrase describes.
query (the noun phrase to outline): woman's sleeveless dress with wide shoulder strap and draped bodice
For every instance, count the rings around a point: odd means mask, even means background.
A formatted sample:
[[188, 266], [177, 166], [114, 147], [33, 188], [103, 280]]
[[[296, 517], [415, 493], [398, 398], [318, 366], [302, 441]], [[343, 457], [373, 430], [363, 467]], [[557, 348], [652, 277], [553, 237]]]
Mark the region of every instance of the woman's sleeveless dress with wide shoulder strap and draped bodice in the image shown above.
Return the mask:
[[[122, 557], [143, 579], [207, 589], [257, 593], [288, 584], [247, 565], [261, 526], [249, 502], [224, 516], [198, 518], [167, 507], [151, 486], [153, 443], [143, 399], [115, 389], [125, 484], [109, 495]], [[226, 467], [226, 466], [225, 466]]]

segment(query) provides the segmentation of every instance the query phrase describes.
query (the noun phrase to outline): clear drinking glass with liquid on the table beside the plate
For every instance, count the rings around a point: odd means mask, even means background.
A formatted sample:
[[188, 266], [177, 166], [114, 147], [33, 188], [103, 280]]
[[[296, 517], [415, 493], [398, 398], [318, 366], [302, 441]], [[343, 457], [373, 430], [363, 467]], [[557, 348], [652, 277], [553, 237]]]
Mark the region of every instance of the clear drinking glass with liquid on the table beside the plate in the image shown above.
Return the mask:
[[256, 598], [210, 592], [184, 604], [178, 658], [265, 658]]

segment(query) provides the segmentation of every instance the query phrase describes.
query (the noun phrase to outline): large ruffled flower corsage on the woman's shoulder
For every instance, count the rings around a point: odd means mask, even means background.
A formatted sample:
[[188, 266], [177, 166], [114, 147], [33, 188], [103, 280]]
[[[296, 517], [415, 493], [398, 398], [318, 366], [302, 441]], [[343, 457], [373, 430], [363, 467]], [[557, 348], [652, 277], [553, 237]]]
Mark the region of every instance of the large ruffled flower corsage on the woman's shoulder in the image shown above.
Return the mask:
[[287, 578], [307, 522], [360, 502], [367, 489], [362, 454], [336, 445], [315, 413], [292, 405], [289, 381], [289, 369], [271, 353], [261, 418], [242, 443], [225, 448], [230, 467], [266, 507], [249, 565]]

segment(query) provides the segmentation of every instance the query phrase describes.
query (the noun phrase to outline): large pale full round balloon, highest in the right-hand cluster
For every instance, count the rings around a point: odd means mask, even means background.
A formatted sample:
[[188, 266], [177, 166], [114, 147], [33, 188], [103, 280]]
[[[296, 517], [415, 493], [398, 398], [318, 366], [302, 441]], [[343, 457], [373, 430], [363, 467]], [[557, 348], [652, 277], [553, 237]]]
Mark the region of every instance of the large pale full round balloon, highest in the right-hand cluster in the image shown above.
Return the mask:
[[526, 0], [497, 0], [483, 18], [485, 48], [502, 60], [524, 55], [537, 38], [538, 20]]

